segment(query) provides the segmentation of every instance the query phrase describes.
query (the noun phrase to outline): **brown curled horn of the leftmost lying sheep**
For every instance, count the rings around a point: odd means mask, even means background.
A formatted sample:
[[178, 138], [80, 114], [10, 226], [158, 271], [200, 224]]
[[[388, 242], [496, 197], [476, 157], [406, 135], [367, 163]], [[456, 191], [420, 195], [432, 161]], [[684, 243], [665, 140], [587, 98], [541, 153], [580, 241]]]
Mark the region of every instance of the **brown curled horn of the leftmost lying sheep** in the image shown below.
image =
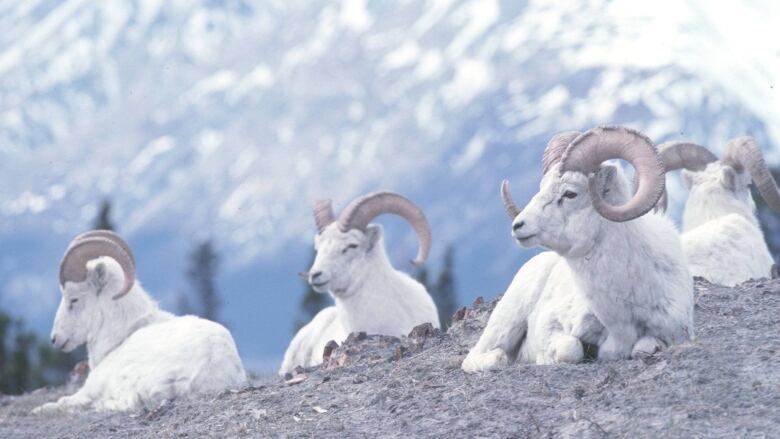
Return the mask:
[[101, 256], [114, 259], [122, 268], [125, 282], [113, 299], [124, 297], [135, 283], [135, 259], [127, 243], [109, 231], [87, 232], [71, 242], [60, 263], [60, 285], [83, 282], [87, 278], [87, 262]]

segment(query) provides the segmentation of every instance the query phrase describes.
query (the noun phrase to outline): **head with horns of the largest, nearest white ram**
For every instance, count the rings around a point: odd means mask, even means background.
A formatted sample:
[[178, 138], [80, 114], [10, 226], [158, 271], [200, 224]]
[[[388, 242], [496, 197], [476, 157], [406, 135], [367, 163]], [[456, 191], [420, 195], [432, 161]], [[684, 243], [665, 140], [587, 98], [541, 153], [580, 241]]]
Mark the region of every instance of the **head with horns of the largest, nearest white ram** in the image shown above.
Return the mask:
[[[604, 161], [623, 159], [638, 175], [638, 189], [619, 167]], [[638, 218], [653, 208], [664, 188], [663, 165], [653, 143], [625, 127], [598, 127], [570, 140], [550, 163], [539, 192], [524, 209], [516, 208], [512, 235], [524, 247], [542, 245], [562, 255], [582, 255], [595, 244], [606, 222]], [[502, 200], [515, 206], [508, 182]]]

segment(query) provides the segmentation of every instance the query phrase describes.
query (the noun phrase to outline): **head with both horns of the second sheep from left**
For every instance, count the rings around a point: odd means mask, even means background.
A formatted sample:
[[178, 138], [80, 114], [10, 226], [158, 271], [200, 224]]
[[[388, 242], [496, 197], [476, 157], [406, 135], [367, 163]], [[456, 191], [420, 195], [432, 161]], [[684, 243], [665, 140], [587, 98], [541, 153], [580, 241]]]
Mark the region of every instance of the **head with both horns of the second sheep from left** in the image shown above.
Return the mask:
[[371, 256], [384, 252], [382, 226], [371, 221], [386, 213], [399, 215], [412, 225], [420, 241], [412, 263], [425, 263], [431, 246], [430, 226], [422, 210], [405, 197], [392, 192], [364, 195], [352, 201], [338, 218], [330, 200], [318, 201], [314, 206], [317, 256], [308, 273], [315, 291], [339, 295], [361, 278]]

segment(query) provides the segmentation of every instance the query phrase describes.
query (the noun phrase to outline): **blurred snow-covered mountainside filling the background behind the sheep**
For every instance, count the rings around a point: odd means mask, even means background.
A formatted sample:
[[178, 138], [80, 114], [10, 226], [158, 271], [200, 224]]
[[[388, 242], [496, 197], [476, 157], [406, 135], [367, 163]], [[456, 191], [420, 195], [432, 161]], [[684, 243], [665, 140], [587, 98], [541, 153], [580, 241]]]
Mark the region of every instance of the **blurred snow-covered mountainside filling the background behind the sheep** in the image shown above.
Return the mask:
[[[498, 183], [533, 193], [557, 131], [750, 133], [780, 160], [780, 6], [731, 3], [0, 0], [2, 304], [48, 330], [61, 252], [109, 196], [165, 306], [214, 237], [242, 353], [278, 355], [312, 201], [378, 188], [424, 207], [434, 261], [455, 244], [464, 302], [493, 295], [531, 254]], [[384, 222], [403, 266], [414, 237]]]

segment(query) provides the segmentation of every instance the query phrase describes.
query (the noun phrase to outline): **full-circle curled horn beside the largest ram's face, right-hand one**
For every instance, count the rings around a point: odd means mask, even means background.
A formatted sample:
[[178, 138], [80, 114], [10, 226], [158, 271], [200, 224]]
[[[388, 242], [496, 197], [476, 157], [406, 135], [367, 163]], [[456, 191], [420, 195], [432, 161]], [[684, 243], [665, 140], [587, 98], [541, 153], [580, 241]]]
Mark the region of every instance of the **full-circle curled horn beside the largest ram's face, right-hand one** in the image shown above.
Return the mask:
[[589, 178], [593, 208], [604, 218], [623, 222], [638, 218], [655, 206], [664, 191], [664, 165], [653, 142], [631, 128], [603, 126], [577, 137], [561, 157], [560, 172], [592, 174], [601, 163], [623, 159], [636, 171], [638, 187], [634, 196], [622, 206], [612, 206], [601, 197], [594, 176]]

